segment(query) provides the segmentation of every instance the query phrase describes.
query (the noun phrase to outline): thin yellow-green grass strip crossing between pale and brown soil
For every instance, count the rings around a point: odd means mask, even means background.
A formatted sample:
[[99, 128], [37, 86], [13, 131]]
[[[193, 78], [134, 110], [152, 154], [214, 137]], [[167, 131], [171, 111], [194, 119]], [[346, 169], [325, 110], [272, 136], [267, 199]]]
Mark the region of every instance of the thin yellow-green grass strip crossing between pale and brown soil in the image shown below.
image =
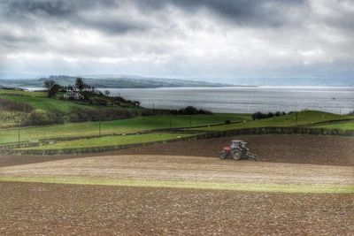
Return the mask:
[[284, 185], [284, 184], [249, 184], [205, 181], [146, 180], [146, 179], [94, 179], [77, 177], [0, 177], [0, 181], [37, 182], [73, 185], [100, 185], [124, 187], [176, 187], [210, 190], [229, 190], [247, 192], [303, 193], [303, 194], [352, 194], [354, 186], [340, 185]]

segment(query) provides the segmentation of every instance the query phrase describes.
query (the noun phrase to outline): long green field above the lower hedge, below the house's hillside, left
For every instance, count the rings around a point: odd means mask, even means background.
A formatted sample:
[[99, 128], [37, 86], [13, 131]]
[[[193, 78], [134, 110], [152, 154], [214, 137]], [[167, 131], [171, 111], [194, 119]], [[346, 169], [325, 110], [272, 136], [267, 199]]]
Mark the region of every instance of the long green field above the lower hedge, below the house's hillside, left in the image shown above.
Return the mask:
[[[150, 116], [101, 122], [101, 134], [135, 133], [154, 129], [209, 126], [224, 124], [226, 120], [240, 122], [250, 120], [248, 114], [214, 114], [194, 116]], [[0, 129], [0, 143], [38, 141], [67, 137], [83, 137], [99, 134], [99, 122], [67, 123], [54, 126], [35, 126]]]

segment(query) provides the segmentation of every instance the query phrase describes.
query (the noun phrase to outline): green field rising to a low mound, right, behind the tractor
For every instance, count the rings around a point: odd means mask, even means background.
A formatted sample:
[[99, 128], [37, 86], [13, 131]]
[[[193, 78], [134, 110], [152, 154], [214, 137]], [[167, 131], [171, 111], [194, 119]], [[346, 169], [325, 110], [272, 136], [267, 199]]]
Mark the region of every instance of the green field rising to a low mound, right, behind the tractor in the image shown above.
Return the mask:
[[264, 118], [259, 120], [251, 120], [240, 124], [225, 125], [225, 126], [211, 126], [203, 128], [195, 128], [194, 130], [201, 131], [227, 131], [240, 128], [251, 127], [286, 127], [286, 126], [312, 126], [313, 124], [331, 120], [353, 119], [354, 116], [342, 116], [332, 113], [316, 110], [305, 110], [301, 112], [291, 113], [289, 115]]

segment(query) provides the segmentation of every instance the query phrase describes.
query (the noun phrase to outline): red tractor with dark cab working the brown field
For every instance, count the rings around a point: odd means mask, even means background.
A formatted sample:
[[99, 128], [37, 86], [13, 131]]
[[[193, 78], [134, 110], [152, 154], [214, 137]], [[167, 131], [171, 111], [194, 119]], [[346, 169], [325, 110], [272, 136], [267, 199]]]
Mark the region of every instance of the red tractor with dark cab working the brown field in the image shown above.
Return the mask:
[[232, 158], [234, 160], [249, 159], [258, 161], [258, 156], [250, 153], [245, 141], [231, 141], [230, 146], [224, 147], [220, 152], [220, 159]]

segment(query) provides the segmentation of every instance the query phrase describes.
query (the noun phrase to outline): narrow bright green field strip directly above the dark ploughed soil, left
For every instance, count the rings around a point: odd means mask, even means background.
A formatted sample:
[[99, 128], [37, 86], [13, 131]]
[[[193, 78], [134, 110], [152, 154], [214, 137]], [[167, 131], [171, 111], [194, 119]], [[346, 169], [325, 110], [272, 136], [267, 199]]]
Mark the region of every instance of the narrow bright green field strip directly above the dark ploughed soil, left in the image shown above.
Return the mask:
[[135, 143], [144, 143], [150, 141], [168, 141], [189, 137], [188, 133], [144, 133], [134, 135], [110, 135], [98, 138], [79, 139], [73, 141], [58, 141], [53, 144], [46, 144], [39, 147], [19, 148], [19, 149], [65, 149], [65, 148], [91, 148], [91, 147], [104, 147], [115, 145], [127, 145]]

